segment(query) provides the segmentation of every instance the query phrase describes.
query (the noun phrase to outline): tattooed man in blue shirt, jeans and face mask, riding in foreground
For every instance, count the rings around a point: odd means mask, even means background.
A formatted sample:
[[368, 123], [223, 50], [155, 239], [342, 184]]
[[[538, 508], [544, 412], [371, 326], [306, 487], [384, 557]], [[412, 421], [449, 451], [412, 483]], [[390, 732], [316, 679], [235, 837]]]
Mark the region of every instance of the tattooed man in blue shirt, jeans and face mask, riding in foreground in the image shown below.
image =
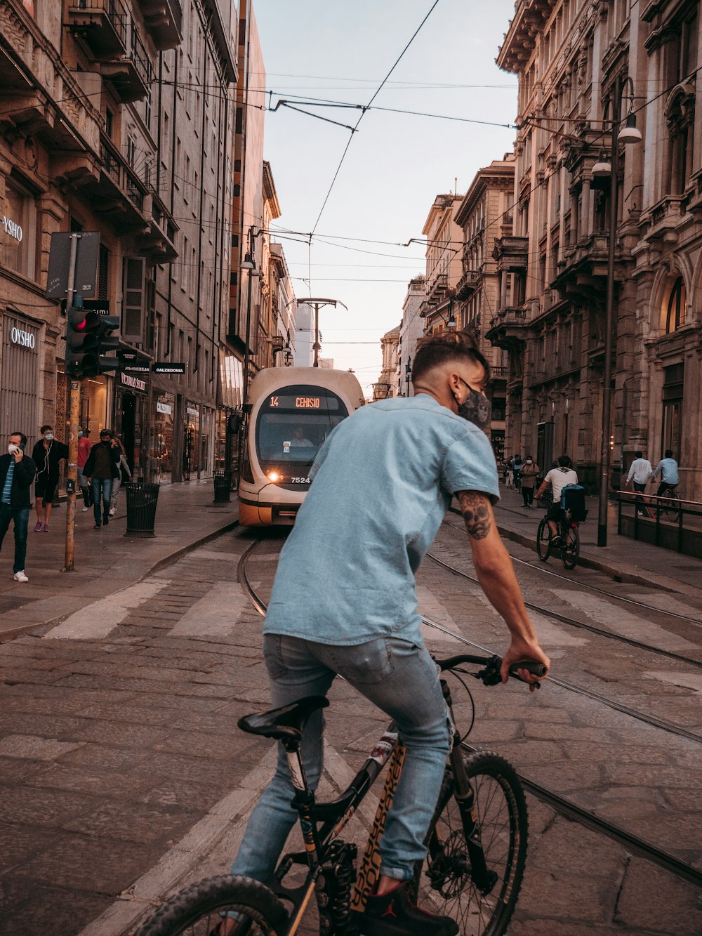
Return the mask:
[[[492, 504], [497, 470], [483, 429], [489, 367], [463, 334], [426, 339], [417, 348], [415, 396], [375, 402], [344, 419], [320, 449], [314, 483], [281, 551], [264, 624], [273, 705], [327, 695], [337, 674], [398, 724], [406, 749], [402, 777], [380, 843], [381, 869], [361, 924], [366, 936], [452, 936], [448, 917], [410, 902], [408, 882], [441, 788], [450, 727], [436, 666], [420, 634], [415, 573], [452, 496], [460, 504], [473, 562], [511, 635], [510, 666], [548, 666], [529, 620]], [[534, 682], [527, 670], [519, 676]], [[322, 771], [321, 710], [302, 736], [314, 789]], [[285, 752], [252, 813], [233, 874], [266, 881], [298, 818]], [[217, 936], [236, 931], [223, 920]]]

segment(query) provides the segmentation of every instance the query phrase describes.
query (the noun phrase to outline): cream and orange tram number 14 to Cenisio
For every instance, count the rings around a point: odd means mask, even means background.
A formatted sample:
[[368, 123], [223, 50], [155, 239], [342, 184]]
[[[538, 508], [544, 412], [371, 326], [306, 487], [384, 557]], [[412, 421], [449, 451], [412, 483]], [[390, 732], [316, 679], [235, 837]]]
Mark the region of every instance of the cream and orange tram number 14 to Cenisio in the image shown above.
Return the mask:
[[316, 453], [334, 426], [363, 402], [360, 384], [348, 371], [273, 367], [256, 374], [243, 430], [242, 526], [295, 522]]

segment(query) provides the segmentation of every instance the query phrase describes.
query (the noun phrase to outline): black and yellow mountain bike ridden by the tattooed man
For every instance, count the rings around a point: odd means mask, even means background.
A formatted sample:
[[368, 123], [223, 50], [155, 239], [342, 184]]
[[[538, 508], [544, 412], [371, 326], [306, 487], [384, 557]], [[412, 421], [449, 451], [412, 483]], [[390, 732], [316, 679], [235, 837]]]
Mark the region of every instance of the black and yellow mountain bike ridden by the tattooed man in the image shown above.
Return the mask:
[[[498, 656], [460, 654], [435, 663], [443, 673], [473, 676], [485, 685], [500, 681]], [[461, 668], [466, 664], [483, 668], [477, 672]], [[524, 668], [535, 676], [546, 675], [540, 664]], [[519, 679], [516, 673], [510, 675]], [[463, 680], [461, 684], [470, 696]], [[471, 750], [464, 739], [475, 723], [475, 707], [461, 738], [446, 680], [441, 680], [441, 687], [453, 725], [453, 744], [426, 840], [427, 858], [418, 863], [412, 882], [413, 899], [429, 902], [437, 914], [453, 916], [463, 934], [500, 936], [517, 904], [526, 864], [524, 791], [504, 757], [489, 751], [465, 753]], [[328, 705], [326, 697], [313, 695], [239, 721], [243, 731], [283, 742], [296, 790], [293, 806], [300, 814], [304, 851], [283, 856], [267, 885], [226, 874], [184, 889], [164, 903], [137, 936], [206, 936], [232, 914], [237, 914], [232, 929], [236, 936], [293, 936], [313, 895], [322, 936], [362, 931], [361, 914], [379, 876], [377, 846], [402, 773], [404, 748], [391, 722], [341, 797], [316, 802], [302, 769], [300, 740], [308, 716]], [[339, 835], [386, 764], [385, 785], [357, 871], [357, 846]], [[285, 885], [287, 874], [300, 865], [307, 869], [304, 882]]]

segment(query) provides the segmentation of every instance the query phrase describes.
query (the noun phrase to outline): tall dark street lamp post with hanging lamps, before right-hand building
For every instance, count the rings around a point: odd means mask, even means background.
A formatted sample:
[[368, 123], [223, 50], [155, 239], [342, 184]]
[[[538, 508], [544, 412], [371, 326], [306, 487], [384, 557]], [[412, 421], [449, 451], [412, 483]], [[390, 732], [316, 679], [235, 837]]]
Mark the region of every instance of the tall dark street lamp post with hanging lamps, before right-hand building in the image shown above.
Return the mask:
[[[629, 91], [629, 113], [626, 124], [620, 129], [622, 122], [622, 96]], [[617, 247], [617, 222], [619, 208], [619, 144], [640, 143], [641, 131], [636, 128], [636, 115], [634, 106], [634, 82], [628, 76], [622, 78], [620, 74], [614, 82], [611, 96], [605, 106], [604, 123], [607, 124], [607, 108], [612, 107], [611, 123], [611, 156], [609, 165], [609, 231], [607, 234], [607, 311], [605, 316], [605, 373], [602, 388], [602, 439], [600, 447], [600, 488], [597, 511], [597, 546], [607, 546], [607, 492], [609, 490], [609, 467], [611, 449], [609, 440], [609, 423], [612, 412], [612, 352], [614, 329], [614, 255]], [[607, 174], [607, 161], [603, 155], [595, 163], [592, 173], [604, 176]]]

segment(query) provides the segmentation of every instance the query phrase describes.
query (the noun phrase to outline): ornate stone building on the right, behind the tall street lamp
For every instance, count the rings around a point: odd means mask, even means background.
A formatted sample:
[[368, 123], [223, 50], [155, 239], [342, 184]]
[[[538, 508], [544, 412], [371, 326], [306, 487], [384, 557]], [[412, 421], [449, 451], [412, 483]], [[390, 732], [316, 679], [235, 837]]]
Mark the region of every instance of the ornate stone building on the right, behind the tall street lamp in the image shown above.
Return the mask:
[[[566, 451], [597, 484], [603, 414], [612, 98], [619, 145], [612, 459], [672, 448], [702, 499], [702, 64], [698, 3], [518, 0], [498, 65], [519, 77], [514, 229], [488, 337], [509, 354], [507, 447]], [[612, 482], [619, 478], [615, 473]]]

